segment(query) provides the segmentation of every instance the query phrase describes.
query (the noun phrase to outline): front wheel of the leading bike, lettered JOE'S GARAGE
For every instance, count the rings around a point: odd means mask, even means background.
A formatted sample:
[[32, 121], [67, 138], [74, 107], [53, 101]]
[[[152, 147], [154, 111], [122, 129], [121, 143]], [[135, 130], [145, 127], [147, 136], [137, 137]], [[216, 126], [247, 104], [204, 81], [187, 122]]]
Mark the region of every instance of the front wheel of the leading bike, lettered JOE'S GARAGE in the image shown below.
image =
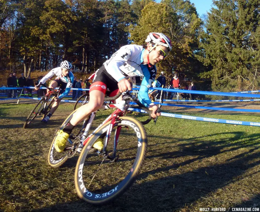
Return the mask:
[[127, 116], [120, 117], [114, 125], [106, 154], [90, 153], [97, 139], [106, 135], [110, 123], [101, 126], [90, 138], [75, 169], [77, 194], [92, 204], [105, 204], [121, 195], [135, 180], [146, 156], [144, 126], [137, 119]]

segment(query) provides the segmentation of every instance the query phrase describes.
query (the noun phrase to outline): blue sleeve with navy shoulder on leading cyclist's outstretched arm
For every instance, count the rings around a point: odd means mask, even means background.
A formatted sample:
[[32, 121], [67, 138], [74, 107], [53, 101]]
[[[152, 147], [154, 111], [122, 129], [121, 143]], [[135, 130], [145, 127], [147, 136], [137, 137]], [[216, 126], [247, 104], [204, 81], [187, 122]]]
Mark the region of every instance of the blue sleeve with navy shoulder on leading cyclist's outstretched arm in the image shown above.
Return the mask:
[[138, 92], [138, 100], [142, 103], [142, 105], [148, 107], [152, 103], [148, 96], [148, 90], [155, 79], [156, 68], [155, 66], [152, 66], [148, 69], [147, 65], [141, 65], [141, 67], [144, 74], [144, 78], [142, 80], [140, 90]]

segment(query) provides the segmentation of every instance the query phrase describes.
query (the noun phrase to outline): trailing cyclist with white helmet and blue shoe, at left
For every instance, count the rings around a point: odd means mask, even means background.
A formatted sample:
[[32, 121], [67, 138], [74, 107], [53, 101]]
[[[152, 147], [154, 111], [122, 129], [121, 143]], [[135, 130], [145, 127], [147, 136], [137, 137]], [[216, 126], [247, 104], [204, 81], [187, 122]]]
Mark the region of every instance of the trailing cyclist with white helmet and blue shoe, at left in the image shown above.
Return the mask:
[[74, 75], [72, 72], [69, 71], [69, 69], [72, 68], [72, 64], [64, 60], [61, 62], [61, 66], [52, 69], [48, 74], [46, 74], [38, 85], [35, 86], [35, 90], [38, 90], [40, 87], [40, 83], [44, 84], [48, 79], [56, 75], [57, 77], [55, 80], [51, 81], [50, 88], [57, 88], [60, 87], [60, 94], [53, 103], [51, 110], [49, 114], [42, 120], [43, 122], [47, 123], [50, 120], [50, 117], [53, 115], [55, 110], [59, 107], [60, 101], [63, 97], [68, 95], [70, 89], [72, 88], [72, 82], [74, 80]]

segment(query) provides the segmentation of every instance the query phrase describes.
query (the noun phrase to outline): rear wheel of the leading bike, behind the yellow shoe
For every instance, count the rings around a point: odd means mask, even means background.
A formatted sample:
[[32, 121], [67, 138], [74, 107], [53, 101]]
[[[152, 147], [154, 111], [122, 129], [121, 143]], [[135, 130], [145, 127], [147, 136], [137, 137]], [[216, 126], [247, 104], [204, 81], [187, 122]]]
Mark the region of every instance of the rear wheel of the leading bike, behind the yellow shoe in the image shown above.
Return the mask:
[[[72, 113], [70, 113], [70, 115], [66, 118], [66, 120], [62, 123], [61, 127], [59, 130], [62, 130], [67, 124], [68, 122], [70, 121], [70, 119], [72, 119], [73, 117], [73, 114], [76, 112], [73, 111]], [[65, 163], [69, 156], [66, 154], [66, 152], [61, 152], [61, 153], [58, 153], [58, 152], [54, 152], [55, 151], [55, 148], [54, 148], [54, 141], [55, 141], [55, 138], [57, 136], [57, 133], [55, 135], [55, 137], [53, 138], [53, 141], [51, 143], [51, 146], [50, 146], [50, 150], [49, 150], [49, 154], [48, 154], [48, 163], [51, 167], [53, 168], [57, 168], [57, 167], [60, 167], [63, 163]], [[68, 143], [68, 142], [67, 142]], [[67, 146], [68, 144], [66, 144]], [[58, 153], [58, 159], [55, 160], [55, 156], [56, 154]], [[54, 155], [55, 154], [55, 155]], [[59, 156], [61, 155], [61, 156]]]

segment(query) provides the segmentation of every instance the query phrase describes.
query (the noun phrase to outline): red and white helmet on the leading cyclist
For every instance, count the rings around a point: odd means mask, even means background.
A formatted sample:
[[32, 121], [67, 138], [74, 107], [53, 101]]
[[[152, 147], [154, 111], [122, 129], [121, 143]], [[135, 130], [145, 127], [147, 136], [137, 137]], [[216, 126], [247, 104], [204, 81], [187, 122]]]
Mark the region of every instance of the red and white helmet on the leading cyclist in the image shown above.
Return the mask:
[[169, 51], [172, 50], [172, 41], [165, 34], [159, 32], [151, 32], [147, 36], [146, 43], [154, 43], [157, 45], [165, 46]]

